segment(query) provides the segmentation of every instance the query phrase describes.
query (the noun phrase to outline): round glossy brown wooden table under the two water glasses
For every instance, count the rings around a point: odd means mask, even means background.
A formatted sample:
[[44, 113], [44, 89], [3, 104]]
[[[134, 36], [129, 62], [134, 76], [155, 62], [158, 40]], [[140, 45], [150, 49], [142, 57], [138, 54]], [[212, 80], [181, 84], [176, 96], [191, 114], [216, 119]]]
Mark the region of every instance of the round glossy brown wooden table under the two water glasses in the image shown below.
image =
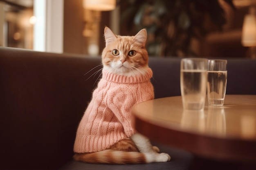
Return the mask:
[[185, 111], [181, 96], [132, 107], [135, 128], [152, 140], [195, 155], [231, 161], [256, 161], [256, 95], [226, 95], [224, 106]]

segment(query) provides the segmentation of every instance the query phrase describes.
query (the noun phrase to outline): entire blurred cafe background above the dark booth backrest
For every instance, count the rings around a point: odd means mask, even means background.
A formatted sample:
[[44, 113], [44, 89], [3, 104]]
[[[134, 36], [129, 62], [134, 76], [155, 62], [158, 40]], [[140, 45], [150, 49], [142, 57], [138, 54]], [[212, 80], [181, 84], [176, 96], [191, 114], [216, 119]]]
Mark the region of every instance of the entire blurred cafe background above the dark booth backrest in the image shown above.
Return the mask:
[[255, 5], [256, 0], [0, 0], [0, 46], [99, 56], [108, 26], [117, 35], [146, 28], [150, 56], [255, 58]]

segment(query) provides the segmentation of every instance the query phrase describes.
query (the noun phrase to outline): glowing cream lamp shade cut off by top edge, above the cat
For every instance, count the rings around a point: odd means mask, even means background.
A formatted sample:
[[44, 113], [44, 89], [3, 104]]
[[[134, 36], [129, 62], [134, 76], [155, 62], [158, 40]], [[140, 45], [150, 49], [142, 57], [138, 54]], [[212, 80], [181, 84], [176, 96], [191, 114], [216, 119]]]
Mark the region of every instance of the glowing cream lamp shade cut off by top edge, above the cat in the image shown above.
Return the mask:
[[94, 11], [111, 11], [116, 7], [116, 0], [83, 0], [83, 7]]

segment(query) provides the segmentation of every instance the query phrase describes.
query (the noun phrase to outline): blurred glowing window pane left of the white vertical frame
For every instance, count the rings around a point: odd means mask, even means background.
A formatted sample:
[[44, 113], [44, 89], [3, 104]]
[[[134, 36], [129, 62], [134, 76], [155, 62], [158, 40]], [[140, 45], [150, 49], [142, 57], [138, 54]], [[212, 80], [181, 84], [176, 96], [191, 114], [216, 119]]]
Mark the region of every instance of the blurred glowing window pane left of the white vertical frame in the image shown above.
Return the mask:
[[32, 4], [22, 6], [0, 1], [0, 13], [0, 46], [32, 49]]

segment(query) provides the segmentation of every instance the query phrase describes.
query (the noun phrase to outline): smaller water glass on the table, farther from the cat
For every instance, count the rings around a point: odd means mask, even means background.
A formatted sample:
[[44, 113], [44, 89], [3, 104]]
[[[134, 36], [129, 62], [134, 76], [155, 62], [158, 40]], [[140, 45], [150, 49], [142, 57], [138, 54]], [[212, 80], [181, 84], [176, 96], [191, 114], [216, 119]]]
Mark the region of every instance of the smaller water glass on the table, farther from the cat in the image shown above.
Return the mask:
[[222, 106], [227, 86], [227, 60], [208, 61], [208, 104]]

